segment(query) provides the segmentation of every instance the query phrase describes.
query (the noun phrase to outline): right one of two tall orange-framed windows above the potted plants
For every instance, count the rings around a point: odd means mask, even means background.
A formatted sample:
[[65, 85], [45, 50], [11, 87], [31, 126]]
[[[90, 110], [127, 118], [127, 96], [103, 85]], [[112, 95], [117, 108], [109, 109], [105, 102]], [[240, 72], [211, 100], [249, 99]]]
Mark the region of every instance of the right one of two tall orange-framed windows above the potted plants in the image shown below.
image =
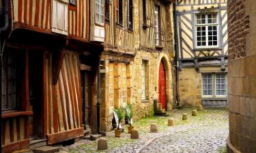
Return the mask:
[[121, 100], [126, 103], [126, 64], [121, 64]]

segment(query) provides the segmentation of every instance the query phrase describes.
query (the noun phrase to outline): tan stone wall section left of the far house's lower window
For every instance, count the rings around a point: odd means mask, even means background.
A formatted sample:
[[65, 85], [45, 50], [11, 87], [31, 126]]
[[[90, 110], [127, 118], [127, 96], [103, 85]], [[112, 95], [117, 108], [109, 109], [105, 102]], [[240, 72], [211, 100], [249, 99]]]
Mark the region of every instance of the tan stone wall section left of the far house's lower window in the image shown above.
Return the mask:
[[195, 67], [180, 71], [180, 102], [184, 106], [201, 105], [201, 73]]

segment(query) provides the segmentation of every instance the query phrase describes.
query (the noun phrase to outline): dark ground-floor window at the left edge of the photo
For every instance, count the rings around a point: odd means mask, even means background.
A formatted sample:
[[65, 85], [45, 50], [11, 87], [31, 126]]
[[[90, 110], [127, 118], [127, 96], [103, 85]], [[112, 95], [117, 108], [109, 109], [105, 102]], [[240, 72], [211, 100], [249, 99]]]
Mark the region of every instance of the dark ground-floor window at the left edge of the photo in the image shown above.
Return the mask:
[[1, 111], [18, 109], [17, 82], [18, 54], [9, 52], [1, 61]]

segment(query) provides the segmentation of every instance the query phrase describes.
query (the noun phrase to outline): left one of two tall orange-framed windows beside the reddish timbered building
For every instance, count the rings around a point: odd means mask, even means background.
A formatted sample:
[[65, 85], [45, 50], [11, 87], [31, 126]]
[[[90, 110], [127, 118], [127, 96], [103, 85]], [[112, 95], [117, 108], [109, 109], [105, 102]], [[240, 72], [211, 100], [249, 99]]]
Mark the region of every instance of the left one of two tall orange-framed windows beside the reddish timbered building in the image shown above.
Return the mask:
[[109, 107], [115, 106], [114, 97], [114, 63], [109, 64]]

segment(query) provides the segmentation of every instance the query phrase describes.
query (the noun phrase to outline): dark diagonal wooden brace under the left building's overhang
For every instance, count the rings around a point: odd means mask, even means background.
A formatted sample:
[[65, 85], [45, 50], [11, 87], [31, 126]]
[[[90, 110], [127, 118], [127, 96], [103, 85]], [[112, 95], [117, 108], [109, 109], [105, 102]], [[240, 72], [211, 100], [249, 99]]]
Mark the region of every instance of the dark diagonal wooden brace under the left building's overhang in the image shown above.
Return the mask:
[[62, 63], [63, 63], [64, 53], [61, 50], [53, 56], [53, 84], [57, 84], [59, 79], [59, 71], [61, 71]]

